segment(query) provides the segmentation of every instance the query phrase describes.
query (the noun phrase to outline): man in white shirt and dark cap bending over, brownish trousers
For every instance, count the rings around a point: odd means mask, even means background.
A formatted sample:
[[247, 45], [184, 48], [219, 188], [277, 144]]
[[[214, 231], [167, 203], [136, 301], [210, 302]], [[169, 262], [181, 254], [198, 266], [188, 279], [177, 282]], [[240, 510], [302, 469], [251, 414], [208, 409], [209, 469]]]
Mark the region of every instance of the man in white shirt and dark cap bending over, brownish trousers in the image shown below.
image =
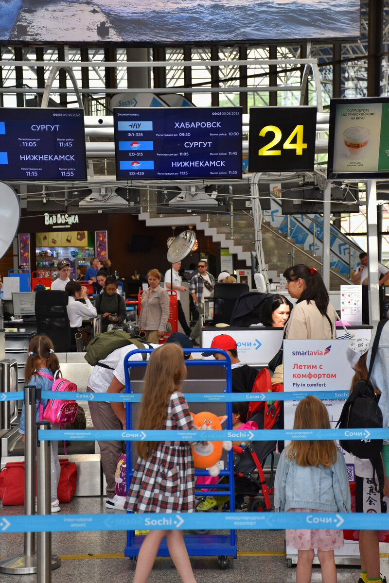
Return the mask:
[[[176, 342], [184, 349], [193, 347], [193, 343], [185, 334], [174, 332], [166, 342]], [[162, 345], [143, 342], [145, 348], [158, 349]], [[134, 344], [128, 344], [113, 350], [105, 359], [93, 367], [87, 380], [87, 391], [95, 393], [120, 393], [125, 387], [126, 373], [124, 371], [124, 358], [128, 353], [138, 348]], [[147, 354], [149, 357], [149, 354]], [[191, 353], [184, 352], [184, 358], [190, 359]], [[129, 356], [129, 360], [142, 360], [142, 354], [136, 353]], [[88, 401], [90, 417], [93, 429], [121, 430], [125, 429], [125, 408], [122, 402]], [[98, 441], [100, 447], [101, 466], [106, 477], [107, 500], [106, 508], [124, 510], [125, 496], [115, 494], [115, 471], [119, 456], [124, 453], [124, 441]]]

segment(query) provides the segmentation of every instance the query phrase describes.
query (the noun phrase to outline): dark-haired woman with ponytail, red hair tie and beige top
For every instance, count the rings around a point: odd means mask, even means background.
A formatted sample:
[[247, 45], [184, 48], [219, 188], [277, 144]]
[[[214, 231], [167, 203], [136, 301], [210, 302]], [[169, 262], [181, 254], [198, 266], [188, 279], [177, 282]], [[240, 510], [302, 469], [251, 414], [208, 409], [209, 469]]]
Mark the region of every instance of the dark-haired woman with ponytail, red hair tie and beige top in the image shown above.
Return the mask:
[[285, 338], [303, 340], [335, 338], [337, 312], [330, 304], [323, 278], [314, 267], [293, 265], [283, 272], [286, 289], [297, 303], [290, 312]]

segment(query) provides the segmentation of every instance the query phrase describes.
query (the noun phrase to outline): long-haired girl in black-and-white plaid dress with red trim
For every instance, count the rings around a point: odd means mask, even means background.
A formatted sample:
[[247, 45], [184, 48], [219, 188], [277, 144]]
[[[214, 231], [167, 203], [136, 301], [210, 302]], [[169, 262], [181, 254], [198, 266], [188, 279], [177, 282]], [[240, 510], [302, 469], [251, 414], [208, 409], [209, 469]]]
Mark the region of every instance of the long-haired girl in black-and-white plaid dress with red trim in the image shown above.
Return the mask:
[[[150, 354], [137, 429], [195, 429], [187, 402], [180, 392], [187, 370], [183, 350], [165, 344]], [[194, 466], [188, 441], [136, 444], [139, 457], [124, 507], [132, 512], [194, 512]], [[159, 545], [167, 547], [184, 583], [195, 583], [182, 531], [150, 531], [143, 540], [134, 583], [145, 583]]]

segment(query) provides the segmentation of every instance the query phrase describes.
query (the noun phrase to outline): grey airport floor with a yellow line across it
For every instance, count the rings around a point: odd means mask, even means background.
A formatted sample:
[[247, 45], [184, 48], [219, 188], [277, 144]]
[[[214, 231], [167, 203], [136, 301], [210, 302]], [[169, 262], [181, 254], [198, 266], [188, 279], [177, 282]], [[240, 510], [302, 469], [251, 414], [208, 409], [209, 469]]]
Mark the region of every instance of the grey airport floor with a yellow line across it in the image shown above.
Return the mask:
[[[62, 504], [62, 513], [93, 514], [107, 512], [102, 497], [73, 498]], [[23, 514], [23, 507], [2, 507], [0, 514]], [[212, 517], [212, 514], [210, 514]], [[285, 557], [284, 531], [238, 531], [238, 556], [229, 559], [228, 568], [220, 570], [217, 557], [191, 557], [198, 583], [282, 583], [296, 581], [296, 568], [288, 568]], [[95, 583], [109, 581], [131, 583], [134, 561], [124, 557], [125, 532], [53, 533], [52, 552], [61, 556], [61, 567], [52, 571], [53, 583]], [[389, 575], [389, 545], [381, 545], [381, 572]], [[23, 553], [23, 534], [0, 534], [0, 556], [10, 557]], [[339, 583], [356, 583], [359, 568], [338, 567]], [[0, 573], [0, 583], [33, 583], [36, 575], [6, 575]], [[169, 558], [157, 557], [150, 583], [176, 583], [180, 581]], [[312, 582], [321, 581], [320, 568], [314, 567]]]

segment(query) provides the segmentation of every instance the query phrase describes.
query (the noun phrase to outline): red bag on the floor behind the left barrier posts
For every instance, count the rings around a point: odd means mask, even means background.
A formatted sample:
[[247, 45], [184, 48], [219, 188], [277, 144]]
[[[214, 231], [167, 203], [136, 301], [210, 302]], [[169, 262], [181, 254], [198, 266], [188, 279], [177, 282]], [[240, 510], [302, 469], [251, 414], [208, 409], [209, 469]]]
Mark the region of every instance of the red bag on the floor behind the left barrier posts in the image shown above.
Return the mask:
[[[59, 502], [70, 502], [76, 491], [77, 466], [67, 458], [59, 460], [57, 498]], [[0, 472], [0, 500], [4, 506], [24, 504], [24, 462], [8, 462]]]

